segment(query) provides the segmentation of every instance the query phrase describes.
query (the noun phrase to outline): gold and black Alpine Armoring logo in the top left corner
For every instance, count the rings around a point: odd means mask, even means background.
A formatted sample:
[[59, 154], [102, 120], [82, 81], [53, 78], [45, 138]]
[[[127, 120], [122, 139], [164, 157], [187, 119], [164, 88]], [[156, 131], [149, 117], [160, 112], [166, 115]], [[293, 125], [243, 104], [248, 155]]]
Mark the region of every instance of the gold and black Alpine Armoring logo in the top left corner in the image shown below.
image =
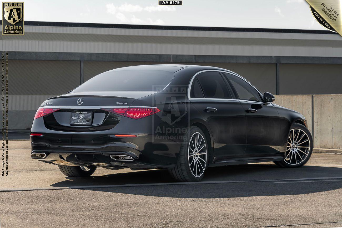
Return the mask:
[[24, 35], [24, 2], [2, 2], [2, 34]]

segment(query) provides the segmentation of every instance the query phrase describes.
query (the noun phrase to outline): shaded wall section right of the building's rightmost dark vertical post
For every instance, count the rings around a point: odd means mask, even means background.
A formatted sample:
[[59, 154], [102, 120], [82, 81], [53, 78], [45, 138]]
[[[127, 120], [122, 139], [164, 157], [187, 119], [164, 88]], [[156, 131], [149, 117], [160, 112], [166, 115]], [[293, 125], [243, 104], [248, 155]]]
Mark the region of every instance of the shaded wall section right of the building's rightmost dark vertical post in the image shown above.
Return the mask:
[[342, 64], [280, 64], [280, 94], [341, 94]]

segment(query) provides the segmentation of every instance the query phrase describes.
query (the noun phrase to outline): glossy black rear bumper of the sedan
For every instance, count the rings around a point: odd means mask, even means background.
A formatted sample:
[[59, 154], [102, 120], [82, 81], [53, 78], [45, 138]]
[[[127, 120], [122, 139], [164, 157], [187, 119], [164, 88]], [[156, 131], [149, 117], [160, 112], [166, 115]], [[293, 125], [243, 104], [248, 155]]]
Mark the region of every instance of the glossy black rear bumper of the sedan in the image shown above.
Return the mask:
[[[134, 120], [122, 117], [113, 129], [90, 132], [51, 130], [45, 127], [43, 118], [35, 119], [32, 124], [31, 133], [43, 135], [30, 136], [31, 153], [45, 153], [47, 156], [43, 159], [34, 159], [50, 163], [63, 160], [114, 166], [112, 162], [116, 161], [109, 156], [127, 152], [134, 155], [134, 161], [124, 162], [120, 166], [130, 167], [134, 163], [172, 168], [177, 162], [183, 142], [181, 139], [158, 137], [160, 133], [157, 127], [162, 128], [165, 122], [157, 115]], [[116, 137], [115, 134], [132, 134], [137, 137]]]

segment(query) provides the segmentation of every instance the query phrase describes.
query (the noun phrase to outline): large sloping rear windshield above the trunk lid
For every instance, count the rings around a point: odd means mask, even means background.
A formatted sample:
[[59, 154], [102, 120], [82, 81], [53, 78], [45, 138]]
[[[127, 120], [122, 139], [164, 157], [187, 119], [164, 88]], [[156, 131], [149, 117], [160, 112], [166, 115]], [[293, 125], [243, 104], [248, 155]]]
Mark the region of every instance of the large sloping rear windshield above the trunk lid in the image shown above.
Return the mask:
[[71, 92], [159, 91], [164, 89], [173, 77], [174, 73], [161, 70], [108, 71], [96, 75]]

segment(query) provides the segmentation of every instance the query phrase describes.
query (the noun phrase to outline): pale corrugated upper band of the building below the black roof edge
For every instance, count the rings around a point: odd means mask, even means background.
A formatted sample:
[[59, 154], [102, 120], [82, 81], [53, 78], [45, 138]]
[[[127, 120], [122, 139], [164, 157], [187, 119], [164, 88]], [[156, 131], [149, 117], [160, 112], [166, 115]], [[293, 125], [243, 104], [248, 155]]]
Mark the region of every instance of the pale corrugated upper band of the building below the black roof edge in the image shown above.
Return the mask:
[[2, 39], [0, 49], [10, 52], [342, 57], [342, 38], [339, 35], [299, 31], [25, 25], [25, 36]]

